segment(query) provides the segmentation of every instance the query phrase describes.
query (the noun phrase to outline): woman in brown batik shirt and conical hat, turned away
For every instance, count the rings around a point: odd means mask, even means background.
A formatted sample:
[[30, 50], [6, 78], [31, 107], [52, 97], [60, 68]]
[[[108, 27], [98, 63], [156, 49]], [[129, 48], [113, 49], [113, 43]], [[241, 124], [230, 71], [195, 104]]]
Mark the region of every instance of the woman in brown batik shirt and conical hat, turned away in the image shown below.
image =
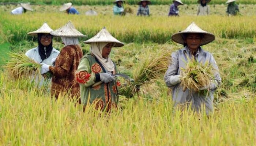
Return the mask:
[[80, 59], [83, 57], [82, 49], [79, 46], [78, 37], [86, 37], [75, 29], [71, 22], [58, 30], [52, 31], [53, 36], [61, 37], [65, 47], [61, 49], [60, 54], [56, 58], [55, 66], [41, 64], [41, 74], [50, 72], [52, 77], [52, 96], [58, 99], [60, 94], [69, 92], [72, 99], [80, 102], [79, 84], [75, 80], [75, 72], [78, 68]]

